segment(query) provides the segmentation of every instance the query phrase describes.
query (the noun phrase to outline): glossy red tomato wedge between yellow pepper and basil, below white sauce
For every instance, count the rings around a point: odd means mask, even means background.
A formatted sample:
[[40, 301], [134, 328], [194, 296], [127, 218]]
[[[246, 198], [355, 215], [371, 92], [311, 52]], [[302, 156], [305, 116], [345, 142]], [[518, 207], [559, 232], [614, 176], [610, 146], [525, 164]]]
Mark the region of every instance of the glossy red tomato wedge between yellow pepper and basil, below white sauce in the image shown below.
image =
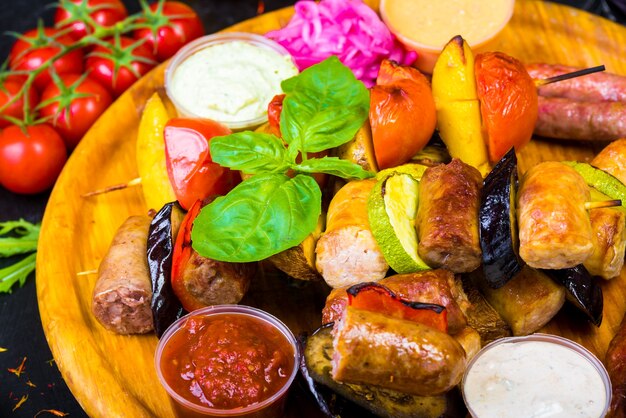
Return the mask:
[[230, 129], [207, 119], [170, 119], [165, 125], [167, 174], [176, 199], [188, 210], [196, 200], [224, 195], [241, 181], [237, 171], [212, 162], [209, 141]]

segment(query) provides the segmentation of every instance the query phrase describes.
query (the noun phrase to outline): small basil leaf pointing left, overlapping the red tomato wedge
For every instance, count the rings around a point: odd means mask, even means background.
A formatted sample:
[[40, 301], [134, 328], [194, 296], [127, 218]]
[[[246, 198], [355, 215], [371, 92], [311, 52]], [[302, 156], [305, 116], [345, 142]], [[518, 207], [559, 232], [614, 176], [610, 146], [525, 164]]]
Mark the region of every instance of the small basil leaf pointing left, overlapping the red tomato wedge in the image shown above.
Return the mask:
[[274, 135], [251, 131], [211, 139], [211, 158], [221, 166], [249, 174], [285, 172], [285, 145]]

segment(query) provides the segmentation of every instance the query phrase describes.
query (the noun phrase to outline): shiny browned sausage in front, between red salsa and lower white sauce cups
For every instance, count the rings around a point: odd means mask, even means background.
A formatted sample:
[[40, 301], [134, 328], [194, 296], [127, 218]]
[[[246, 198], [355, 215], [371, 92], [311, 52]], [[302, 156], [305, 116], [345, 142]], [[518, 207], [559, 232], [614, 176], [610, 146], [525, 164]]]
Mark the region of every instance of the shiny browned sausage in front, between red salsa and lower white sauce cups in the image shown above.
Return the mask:
[[417, 322], [347, 307], [336, 323], [332, 377], [415, 395], [437, 395], [461, 380], [466, 357], [451, 336]]

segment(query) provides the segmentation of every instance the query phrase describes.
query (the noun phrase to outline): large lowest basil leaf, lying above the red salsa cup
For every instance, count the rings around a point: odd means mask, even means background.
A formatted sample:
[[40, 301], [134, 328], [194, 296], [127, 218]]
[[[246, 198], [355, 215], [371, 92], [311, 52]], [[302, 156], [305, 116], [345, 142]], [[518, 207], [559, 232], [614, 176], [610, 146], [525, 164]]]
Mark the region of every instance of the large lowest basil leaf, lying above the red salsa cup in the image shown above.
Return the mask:
[[202, 208], [191, 232], [193, 248], [214, 260], [263, 260], [315, 229], [321, 196], [308, 175], [258, 174]]

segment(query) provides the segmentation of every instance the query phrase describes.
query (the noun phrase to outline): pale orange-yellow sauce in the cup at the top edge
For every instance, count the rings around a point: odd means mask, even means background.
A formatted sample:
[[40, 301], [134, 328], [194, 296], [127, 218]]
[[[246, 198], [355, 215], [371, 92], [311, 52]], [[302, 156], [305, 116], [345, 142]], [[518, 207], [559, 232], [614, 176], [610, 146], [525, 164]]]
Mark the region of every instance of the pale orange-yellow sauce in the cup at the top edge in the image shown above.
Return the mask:
[[[513, 0], [383, 0], [381, 13], [396, 36], [441, 49], [461, 35], [478, 45], [508, 22]], [[402, 40], [402, 39], [401, 39]]]

